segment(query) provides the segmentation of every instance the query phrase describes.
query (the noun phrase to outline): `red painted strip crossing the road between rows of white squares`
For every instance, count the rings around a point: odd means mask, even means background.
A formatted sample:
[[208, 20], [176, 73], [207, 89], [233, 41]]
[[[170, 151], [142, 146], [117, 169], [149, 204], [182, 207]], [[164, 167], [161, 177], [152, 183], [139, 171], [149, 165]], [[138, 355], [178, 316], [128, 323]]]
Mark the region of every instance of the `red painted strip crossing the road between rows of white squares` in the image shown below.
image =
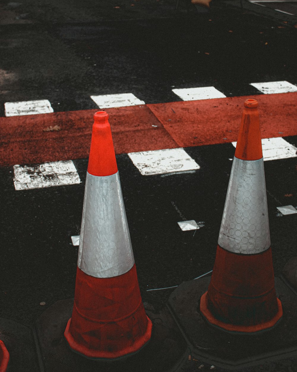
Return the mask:
[[[234, 142], [247, 98], [259, 102], [262, 138], [297, 135], [297, 92], [127, 106], [106, 109], [115, 153]], [[96, 111], [1, 117], [0, 166], [87, 158]]]

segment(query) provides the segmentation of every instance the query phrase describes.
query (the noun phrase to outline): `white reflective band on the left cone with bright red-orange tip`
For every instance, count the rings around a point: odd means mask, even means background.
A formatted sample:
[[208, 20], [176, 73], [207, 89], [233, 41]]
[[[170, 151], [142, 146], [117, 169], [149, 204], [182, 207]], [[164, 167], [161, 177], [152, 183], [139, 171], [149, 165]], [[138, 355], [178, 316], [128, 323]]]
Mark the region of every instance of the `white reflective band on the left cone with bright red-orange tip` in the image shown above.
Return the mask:
[[79, 239], [78, 267], [96, 278], [128, 272], [134, 256], [118, 172], [87, 172]]

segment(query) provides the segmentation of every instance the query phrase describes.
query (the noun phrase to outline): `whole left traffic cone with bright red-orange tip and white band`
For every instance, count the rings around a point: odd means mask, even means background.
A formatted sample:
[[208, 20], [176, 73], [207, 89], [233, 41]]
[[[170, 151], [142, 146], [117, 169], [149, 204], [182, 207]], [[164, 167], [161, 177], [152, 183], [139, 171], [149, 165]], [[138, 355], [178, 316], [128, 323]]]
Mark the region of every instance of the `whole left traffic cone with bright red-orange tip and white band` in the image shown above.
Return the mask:
[[152, 323], [143, 307], [108, 114], [92, 129], [72, 317], [64, 335], [72, 350], [116, 359], [141, 349]]

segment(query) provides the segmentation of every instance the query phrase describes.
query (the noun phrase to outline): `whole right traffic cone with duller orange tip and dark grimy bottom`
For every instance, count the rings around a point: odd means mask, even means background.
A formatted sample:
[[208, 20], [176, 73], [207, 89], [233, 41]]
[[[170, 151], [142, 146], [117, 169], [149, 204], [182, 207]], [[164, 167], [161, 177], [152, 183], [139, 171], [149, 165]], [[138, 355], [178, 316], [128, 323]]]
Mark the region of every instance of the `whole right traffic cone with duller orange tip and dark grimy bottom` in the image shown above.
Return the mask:
[[208, 291], [206, 320], [227, 331], [255, 333], [283, 315], [274, 286], [258, 102], [247, 99]]

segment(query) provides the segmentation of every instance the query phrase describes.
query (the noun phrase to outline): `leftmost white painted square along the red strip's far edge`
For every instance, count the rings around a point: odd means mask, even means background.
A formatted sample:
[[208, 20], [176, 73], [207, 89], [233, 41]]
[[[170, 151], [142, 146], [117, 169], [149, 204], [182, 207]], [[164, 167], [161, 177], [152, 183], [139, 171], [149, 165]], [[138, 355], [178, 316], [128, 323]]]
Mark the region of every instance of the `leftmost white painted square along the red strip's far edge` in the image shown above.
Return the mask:
[[4, 103], [5, 116], [36, 115], [53, 112], [47, 99]]

